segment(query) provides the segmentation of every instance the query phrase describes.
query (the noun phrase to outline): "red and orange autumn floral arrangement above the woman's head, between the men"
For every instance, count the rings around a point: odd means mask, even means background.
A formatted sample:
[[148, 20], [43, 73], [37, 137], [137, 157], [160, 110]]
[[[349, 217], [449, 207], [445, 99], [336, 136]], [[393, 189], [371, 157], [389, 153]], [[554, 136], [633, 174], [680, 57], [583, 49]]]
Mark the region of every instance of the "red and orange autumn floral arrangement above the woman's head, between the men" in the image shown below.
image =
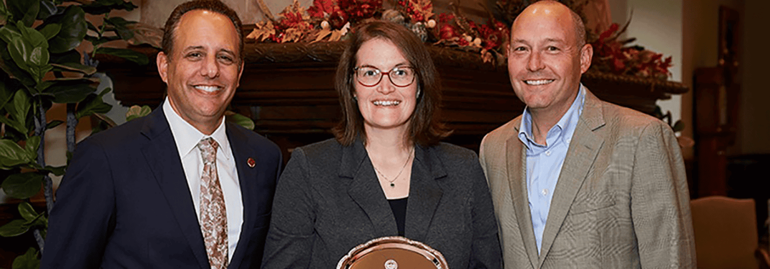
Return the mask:
[[381, 19], [406, 26], [423, 42], [478, 52], [485, 62], [504, 63], [503, 44], [508, 37], [504, 23], [490, 16], [486, 24], [477, 24], [457, 8], [436, 15], [430, 0], [393, 1], [393, 8], [386, 9], [383, 0], [314, 0], [305, 9], [295, 0], [276, 18], [260, 0], [266, 20], [256, 23], [246, 38], [277, 43], [334, 42], [345, 39], [357, 24]]

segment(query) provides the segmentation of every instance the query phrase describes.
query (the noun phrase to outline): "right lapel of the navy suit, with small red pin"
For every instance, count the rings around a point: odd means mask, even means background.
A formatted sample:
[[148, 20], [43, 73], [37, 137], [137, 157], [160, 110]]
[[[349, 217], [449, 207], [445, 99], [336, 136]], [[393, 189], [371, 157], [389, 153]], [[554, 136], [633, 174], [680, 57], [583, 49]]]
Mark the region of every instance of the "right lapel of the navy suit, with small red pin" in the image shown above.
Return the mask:
[[[246, 248], [248, 247], [249, 240], [252, 238], [252, 232], [256, 221], [256, 212], [259, 212], [259, 207], [264, 207], [266, 204], [260, 203], [260, 199], [256, 190], [256, 183], [262, 181], [264, 174], [260, 174], [259, 171], [264, 172], [265, 169], [249, 168], [248, 158], [253, 158], [257, 164], [260, 164], [259, 158], [249, 146], [248, 138], [235, 129], [235, 126], [226, 124], [227, 140], [230, 143], [230, 149], [233, 151], [233, 158], [236, 163], [236, 169], [238, 171], [238, 181], [240, 184], [241, 200], [243, 201], [243, 224], [241, 225], [241, 234], [238, 244], [236, 245], [236, 252], [233, 253], [233, 258], [230, 259], [229, 268], [239, 268], [240, 263], [243, 261], [244, 255], [246, 255]], [[233, 250], [230, 250], [233, 251]]]

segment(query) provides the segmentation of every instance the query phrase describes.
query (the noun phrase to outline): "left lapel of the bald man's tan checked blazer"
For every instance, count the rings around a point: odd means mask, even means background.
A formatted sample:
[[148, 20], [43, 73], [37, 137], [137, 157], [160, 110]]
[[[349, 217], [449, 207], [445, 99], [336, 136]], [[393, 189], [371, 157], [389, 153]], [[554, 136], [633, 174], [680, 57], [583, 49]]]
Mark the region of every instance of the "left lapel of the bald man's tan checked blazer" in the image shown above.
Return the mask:
[[[521, 121], [520, 121], [521, 122]], [[505, 141], [506, 160], [508, 161], [508, 184], [511, 185], [511, 200], [514, 202], [516, 221], [518, 222], [521, 238], [524, 239], [524, 248], [533, 268], [537, 264], [537, 244], [534, 239], [532, 227], [532, 215], [527, 198], [527, 156], [526, 148], [518, 137], [519, 124], [514, 124], [514, 133]]]

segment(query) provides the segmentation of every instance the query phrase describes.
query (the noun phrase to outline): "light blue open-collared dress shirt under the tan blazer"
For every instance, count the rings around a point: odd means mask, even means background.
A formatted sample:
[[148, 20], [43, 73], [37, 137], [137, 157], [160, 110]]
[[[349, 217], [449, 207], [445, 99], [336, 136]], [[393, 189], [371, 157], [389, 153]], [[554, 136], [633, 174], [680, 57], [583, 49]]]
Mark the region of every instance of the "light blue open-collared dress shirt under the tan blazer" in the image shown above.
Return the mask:
[[577, 121], [583, 112], [585, 89], [580, 85], [577, 98], [572, 102], [567, 113], [548, 130], [546, 144], [537, 144], [532, 136], [532, 115], [527, 108], [521, 115], [519, 127], [519, 140], [527, 147], [527, 198], [529, 199], [530, 213], [532, 214], [532, 228], [537, 242], [537, 254], [543, 241], [545, 221], [548, 219], [548, 211], [551, 210], [551, 198], [553, 198], [556, 181], [561, 174], [561, 165], [567, 158], [567, 150], [572, 141]]

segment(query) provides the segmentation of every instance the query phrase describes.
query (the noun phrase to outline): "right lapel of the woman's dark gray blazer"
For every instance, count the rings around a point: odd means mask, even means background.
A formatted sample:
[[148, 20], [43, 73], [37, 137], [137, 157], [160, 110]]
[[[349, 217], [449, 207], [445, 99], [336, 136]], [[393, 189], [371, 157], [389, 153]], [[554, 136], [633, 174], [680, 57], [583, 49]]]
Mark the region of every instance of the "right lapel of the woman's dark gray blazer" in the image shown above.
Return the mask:
[[416, 145], [404, 236], [416, 241], [425, 241], [430, 221], [433, 219], [442, 195], [437, 179], [446, 176], [444, 165], [430, 154], [430, 149]]

